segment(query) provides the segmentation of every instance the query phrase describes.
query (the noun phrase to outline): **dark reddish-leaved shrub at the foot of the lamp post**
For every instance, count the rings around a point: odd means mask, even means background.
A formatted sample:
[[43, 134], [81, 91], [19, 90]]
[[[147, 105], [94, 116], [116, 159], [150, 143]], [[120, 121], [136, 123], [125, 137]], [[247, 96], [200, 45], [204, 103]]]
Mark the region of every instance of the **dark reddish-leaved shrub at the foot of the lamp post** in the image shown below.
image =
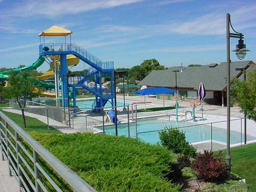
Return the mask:
[[227, 165], [221, 152], [215, 154], [212, 151], [204, 150], [204, 153], [197, 154], [191, 163], [191, 168], [196, 171], [197, 178], [204, 181], [223, 181], [227, 174]]

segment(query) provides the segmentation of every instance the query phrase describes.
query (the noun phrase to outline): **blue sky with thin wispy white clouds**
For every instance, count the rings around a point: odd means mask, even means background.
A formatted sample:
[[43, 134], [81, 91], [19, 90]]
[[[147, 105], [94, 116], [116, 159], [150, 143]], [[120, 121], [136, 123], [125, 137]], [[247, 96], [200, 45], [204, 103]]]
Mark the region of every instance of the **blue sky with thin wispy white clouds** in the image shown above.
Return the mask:
[[[40, 32], [53, 25], [73, 31], [72, 42], [115, 68], [145, 59], [165, 67], [226, 61], [226, 13], [256, 62], [255, 0], [0, 0], [0, 66], [31, 65]], [[65, 41], [48, 37], [49, 42]], [[238, 39], [230, 39], [230, 49]], [[231, 60], [237, 61], [231, 52]], [[80, 62], [72, 71], [87, 69]], [[44, 63], [38, 71], [49, 69]]]

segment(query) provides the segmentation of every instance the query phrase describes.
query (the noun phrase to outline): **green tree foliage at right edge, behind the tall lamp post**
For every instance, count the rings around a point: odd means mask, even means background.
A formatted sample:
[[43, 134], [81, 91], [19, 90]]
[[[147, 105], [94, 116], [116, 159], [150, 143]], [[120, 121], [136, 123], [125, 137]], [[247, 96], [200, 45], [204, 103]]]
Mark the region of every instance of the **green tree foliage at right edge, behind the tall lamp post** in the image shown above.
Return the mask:
[[233, 78], [230, 84], [232, 94], [231, 102], [237, 104], [240, 112], [244, 113], [248, 119], [256, 121], [256, 67], [248, 68], [246, 80]]

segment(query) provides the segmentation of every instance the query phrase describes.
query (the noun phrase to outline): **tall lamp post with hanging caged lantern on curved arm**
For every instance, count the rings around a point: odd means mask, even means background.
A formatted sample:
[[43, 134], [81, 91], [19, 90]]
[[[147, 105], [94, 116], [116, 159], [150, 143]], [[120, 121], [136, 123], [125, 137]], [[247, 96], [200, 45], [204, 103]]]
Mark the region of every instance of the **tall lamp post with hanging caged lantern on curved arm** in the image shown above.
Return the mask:
[[[235, 33], [230, 33], [229, 27], [231, 26], [232, 30]], [[244, 45], [244, 35], [242, 33], [236, 32], [230, 22], [230, 14], [226, 14], [226, 40], [227, 40], [227, 153], [226, 153], [226, 164], [228, 169], [228, 177], [230, 178], [231, 174], [231, 156], [230, 156], [230, 37], [240, 38], [238, 40], [239, 44], [236, 46], [236, 55], [237, 58], [243, 59], [246, 55], [246, 45]]]

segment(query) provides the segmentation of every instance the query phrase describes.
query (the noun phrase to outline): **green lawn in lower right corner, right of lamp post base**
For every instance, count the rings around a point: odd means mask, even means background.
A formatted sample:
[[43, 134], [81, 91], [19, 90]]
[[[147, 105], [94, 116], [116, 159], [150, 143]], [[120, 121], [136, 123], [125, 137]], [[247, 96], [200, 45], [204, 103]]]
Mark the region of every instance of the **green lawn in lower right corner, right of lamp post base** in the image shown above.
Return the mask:
[[[249, 191], [256, 191], [256, 143], [230, 148], [231, 172], [246, 179]], [[223, 156], [226, 150], [222, 151]]]

